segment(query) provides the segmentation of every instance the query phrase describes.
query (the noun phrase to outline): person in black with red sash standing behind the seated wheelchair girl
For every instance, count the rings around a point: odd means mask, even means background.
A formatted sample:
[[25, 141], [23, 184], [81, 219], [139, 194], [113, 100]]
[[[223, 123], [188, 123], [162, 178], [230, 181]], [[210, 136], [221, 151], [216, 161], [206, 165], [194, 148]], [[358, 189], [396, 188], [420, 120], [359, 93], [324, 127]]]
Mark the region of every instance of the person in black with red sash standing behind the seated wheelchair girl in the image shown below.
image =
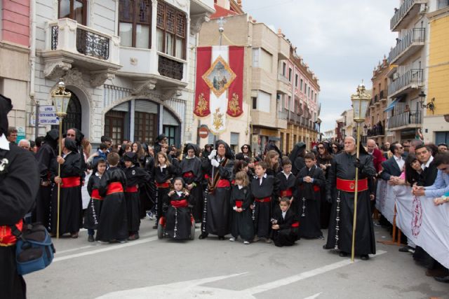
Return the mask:
[[185, 186], [190, 193], [190, 200], [193, 207], [195, 222], [203, 220], [203, 189], [201, 180], [203, 172], [201, 171], [201, 160], [199, 158], [199, 147], [196, 144], [187, 144], [184, 148], [185, 158], [180, 162], [180, 176], [185, 181]]

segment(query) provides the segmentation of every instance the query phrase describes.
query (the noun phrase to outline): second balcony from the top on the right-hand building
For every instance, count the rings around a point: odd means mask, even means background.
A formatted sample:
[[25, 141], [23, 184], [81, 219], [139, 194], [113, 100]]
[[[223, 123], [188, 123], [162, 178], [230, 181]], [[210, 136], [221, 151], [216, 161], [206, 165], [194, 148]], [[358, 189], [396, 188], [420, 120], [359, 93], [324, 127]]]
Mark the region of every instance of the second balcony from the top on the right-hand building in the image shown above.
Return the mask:
[[389, 55], [388, 60], [391, 64], [401, 64], [411, 55], [415, 54], [417, 50], [424, 47], [425, 28], [413, 28], [406, 36], [403, 36]]

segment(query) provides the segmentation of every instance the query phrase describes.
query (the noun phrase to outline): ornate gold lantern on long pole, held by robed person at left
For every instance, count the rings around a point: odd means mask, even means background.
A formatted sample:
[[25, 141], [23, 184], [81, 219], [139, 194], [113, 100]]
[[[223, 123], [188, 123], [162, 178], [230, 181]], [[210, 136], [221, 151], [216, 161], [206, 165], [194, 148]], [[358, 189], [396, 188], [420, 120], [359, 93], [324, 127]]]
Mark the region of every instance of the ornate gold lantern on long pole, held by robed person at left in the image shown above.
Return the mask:
[[[58, 87], [52, 90], [51, 99], [55, 105], [56, 116], [59, 118], [59, 155], [62, 152], [62, 120], [67, 116], [67, 107], [69, 106], [71, 92], [65, 91], [65, 84], [62, 79], [58, 82]], [[58, 176], [61, 176], [61, 165], [58, 163]], [[61, 184], [58, 183], [58, 221], [56, 226], [56, 237], [59, 239], [59, 212], [60, 212], [60, 193]]]

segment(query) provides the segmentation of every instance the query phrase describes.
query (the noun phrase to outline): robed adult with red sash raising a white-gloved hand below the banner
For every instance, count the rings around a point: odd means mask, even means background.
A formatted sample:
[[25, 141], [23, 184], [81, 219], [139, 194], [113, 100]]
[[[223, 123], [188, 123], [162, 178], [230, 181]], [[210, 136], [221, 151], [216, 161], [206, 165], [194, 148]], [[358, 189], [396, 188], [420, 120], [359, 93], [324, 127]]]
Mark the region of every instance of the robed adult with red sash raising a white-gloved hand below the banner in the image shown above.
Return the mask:
[[204, 239], [208, 234], [212, 234], [223, 240], [230, 230], [229, 197], [231, 197], [231, 181], [234, 176], [234, 154], [229, 145], [222, 140], [217, 140], [215, 148], [217, 149], [208, 156], [206, 165], [203, 165], [209, 179], [199, 238]]

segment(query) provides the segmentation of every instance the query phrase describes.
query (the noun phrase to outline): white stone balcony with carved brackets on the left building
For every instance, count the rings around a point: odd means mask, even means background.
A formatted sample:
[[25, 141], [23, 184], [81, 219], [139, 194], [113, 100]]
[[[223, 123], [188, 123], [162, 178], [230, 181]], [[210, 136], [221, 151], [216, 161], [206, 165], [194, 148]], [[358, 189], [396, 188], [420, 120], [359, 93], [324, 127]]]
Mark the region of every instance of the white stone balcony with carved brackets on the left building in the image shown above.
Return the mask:
[[[91, 85], [99, 86], [119, 64], [119, 36], [104, 34], [75, 20], [60, 19], [46, 24], [46, 48], [42, 51], [44, 75], [58, 78], [72, 67], [91, 72]], [[105, 78], [105, 80], [102, 80]]]

